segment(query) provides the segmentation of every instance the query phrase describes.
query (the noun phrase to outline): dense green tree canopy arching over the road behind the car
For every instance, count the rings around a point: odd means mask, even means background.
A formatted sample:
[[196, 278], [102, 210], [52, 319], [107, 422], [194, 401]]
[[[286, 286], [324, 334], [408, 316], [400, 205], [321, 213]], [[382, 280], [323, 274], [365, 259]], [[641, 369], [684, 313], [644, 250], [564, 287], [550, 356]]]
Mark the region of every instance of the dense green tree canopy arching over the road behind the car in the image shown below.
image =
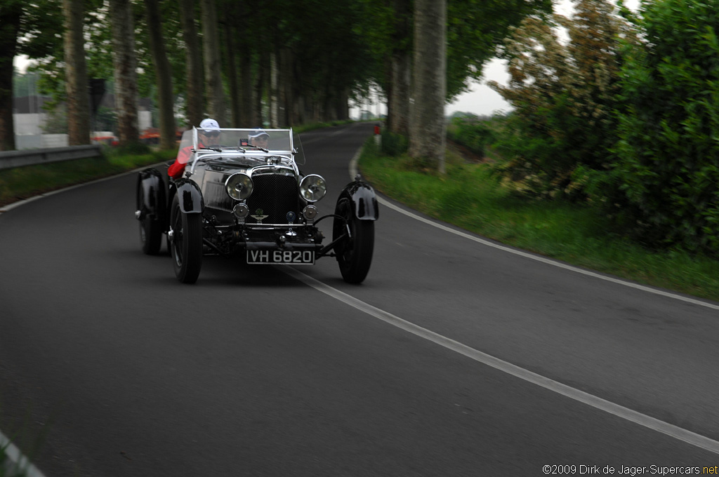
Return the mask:
[[[393, 98], [389, 114], [397, 121], [390, 122], [407, 133], [413, 0], [122, 0], [119, 9], [121, 0], [76, 1], [84, 6], [83, 22], [75, 25], [86, 40], [87, 77], [107, 80], [106, 90], [125, 105], [133, 95], [151, 96], [153, 114], [164, 118], [161, 129], [172, 127], [170, 109], [179, 113], [180, 124], [208, 114], [223, 119], [223, 126], [347, 119], [351, 101], [362, 101], [374, 85]], [[216, 16], [204, 14], [211, 7]], [[65, 74], [73, 71], [63, 50], [63, 25], [51, 14], [58, 10], [60, 0], [6, 0], [0, 8], [0, 16], [12, 18], [3, 22], [7, 34], [0, 39], [12, 38], [16, 46], [12, 54], [0, 50], [0, 60], [5, 54], [12, 61], [20, 52], [37, 60], [41, 91], [54, 104], [68, 100]], [[444, 10], [449, 100], [481, 77], [510, 27], [528, 14], [551, 11], [551, 0], [447, 0]], [[137, 68], [136, 78], [119, 73], [128, 65]], [[6, 83], [12, 84], [12, 75]], [[117, 111], [122, 136], [136, 134], [136, 116]], [[7, 136], [2, 124], [0, 119], [0, 136]], [[168, 144], [172, 134], [162, 136]]]

